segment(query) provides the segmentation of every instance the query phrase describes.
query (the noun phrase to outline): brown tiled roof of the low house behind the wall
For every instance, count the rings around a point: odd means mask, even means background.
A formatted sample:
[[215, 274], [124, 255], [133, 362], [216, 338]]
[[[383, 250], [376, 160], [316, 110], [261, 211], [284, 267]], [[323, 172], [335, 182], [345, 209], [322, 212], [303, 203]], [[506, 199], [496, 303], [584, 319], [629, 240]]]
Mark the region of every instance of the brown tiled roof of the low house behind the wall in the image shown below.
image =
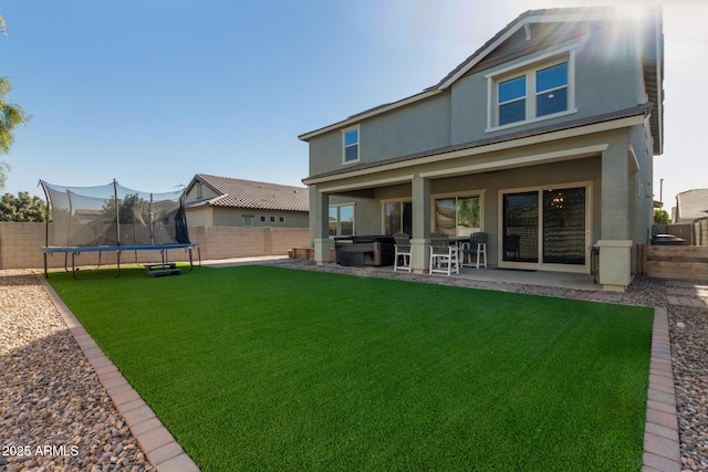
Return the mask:
[[187, 208], [208, 204], [254, 210], [310, 211], [310, 193], [304, 187], [197, 174], [187, 187], [187, 192], [197, 183], [209, 187], [218, 196], [188, 202]]

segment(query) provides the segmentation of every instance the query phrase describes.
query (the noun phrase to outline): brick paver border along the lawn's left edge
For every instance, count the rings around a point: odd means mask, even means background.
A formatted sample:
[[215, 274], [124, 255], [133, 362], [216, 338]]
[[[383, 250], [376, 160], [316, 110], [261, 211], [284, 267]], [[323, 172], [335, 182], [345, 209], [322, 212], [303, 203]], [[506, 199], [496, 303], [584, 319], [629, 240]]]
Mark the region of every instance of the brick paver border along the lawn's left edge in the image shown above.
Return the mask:
[[64, 302], [56, 295], [44, 277], [44, 291], [64, 318], [69, 332], [93, 366], [101, 385], [106, 389], [113, 405], [125, 419], [137, 444], [147, 460], [158, 470], [166, 472], [198, 472], [197, 464], [175, 441], [150, 407], [143, 401], [115, 365], [103, 354], [86, 329], [76, 319]]

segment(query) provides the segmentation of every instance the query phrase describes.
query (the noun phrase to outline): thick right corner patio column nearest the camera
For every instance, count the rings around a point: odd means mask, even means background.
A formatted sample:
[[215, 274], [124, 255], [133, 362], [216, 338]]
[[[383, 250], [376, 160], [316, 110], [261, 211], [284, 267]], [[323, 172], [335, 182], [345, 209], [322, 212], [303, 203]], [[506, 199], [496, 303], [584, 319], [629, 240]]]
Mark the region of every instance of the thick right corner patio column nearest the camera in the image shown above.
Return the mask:
[[624, 292], [632, 281], [627, 141], [618, 139], [602, 154], [600, 284]]

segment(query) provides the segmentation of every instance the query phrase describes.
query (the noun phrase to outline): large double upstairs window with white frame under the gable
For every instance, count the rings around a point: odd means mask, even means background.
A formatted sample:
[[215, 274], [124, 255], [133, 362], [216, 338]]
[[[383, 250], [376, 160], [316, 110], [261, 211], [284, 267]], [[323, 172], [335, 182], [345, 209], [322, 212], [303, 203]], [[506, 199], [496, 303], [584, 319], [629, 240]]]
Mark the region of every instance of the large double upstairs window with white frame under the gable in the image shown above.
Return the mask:
[[574, 113], [573, 51], [487, 75], [487, 130]]

